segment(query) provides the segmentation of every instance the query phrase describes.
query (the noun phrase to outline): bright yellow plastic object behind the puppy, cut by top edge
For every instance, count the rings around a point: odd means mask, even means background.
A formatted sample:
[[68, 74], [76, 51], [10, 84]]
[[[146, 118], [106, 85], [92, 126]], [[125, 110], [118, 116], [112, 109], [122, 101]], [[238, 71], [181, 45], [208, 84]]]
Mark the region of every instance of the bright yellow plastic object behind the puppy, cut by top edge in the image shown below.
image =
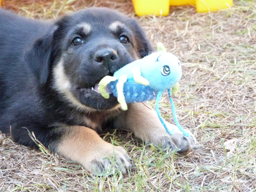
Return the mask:
[[233, 6], [233, 0], [132, 0], [138, 16], [169, 14], [169, 7], [196, 5], [197, 12], [218, 11]]

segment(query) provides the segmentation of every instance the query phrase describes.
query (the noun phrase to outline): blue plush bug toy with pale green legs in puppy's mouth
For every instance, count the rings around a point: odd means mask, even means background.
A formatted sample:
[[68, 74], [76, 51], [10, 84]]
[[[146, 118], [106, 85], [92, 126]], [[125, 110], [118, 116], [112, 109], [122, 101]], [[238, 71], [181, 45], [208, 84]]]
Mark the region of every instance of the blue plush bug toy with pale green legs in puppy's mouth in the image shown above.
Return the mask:
[[98, 91], [105, 98], [110, 97], [106, 89], [113, 92], [123, 110], [127, 110], [126, 103], [150, 101], [156, 98], [158, 117], [166, 132], [172, 135], [174, 130], [169, 131], [159, 112], [162, 92], [168, 90], [174, 121], [188, 137], [189, 134], [177, 121], [170, 91], [172, 89], [174, 94], [177, 92], [181, 75], [180, 60], [175, 55], [166, 52], [162, 43], [158, 43], [158, 52], [123, 66], [113, 76], [105, 76], [99, 83]]

